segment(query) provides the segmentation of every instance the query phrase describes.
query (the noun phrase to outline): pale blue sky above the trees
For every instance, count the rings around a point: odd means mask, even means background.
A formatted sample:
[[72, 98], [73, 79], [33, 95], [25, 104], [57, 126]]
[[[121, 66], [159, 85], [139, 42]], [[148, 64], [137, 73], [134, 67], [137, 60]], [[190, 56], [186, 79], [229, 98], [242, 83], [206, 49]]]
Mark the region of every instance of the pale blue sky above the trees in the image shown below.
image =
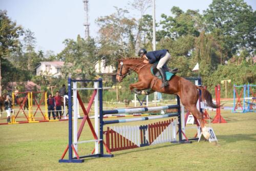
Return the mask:
[[[89, 0], [90, 36], [97, 37], [98, 27], [95, 20], [114, 13], [114, 6], [127, 9], [130, 11], [129, 16], [137, 17], [139, 13], [127, 5], [132, 1]], [[156, 0], [156, 22], [160, 22], [162, 13], [171, 15], [170, 9], [173, 6], [178, 6], [183, 11], [192, 9], [202, 13], [211, 2], [212, 0]], [[245, 2], [253, 10], [256, 9], [255, 0]], [[52, 50], [56, 54], [65, 47], [62, 42], [66, 38], [76, 39], [78, 34], [84, 37], [83, 0], [0, 0], [0, 10], [7, 10], [11, 20], [35, 33], [36, 50]], [[152, 15], [152, 8], [146, 13]]]

